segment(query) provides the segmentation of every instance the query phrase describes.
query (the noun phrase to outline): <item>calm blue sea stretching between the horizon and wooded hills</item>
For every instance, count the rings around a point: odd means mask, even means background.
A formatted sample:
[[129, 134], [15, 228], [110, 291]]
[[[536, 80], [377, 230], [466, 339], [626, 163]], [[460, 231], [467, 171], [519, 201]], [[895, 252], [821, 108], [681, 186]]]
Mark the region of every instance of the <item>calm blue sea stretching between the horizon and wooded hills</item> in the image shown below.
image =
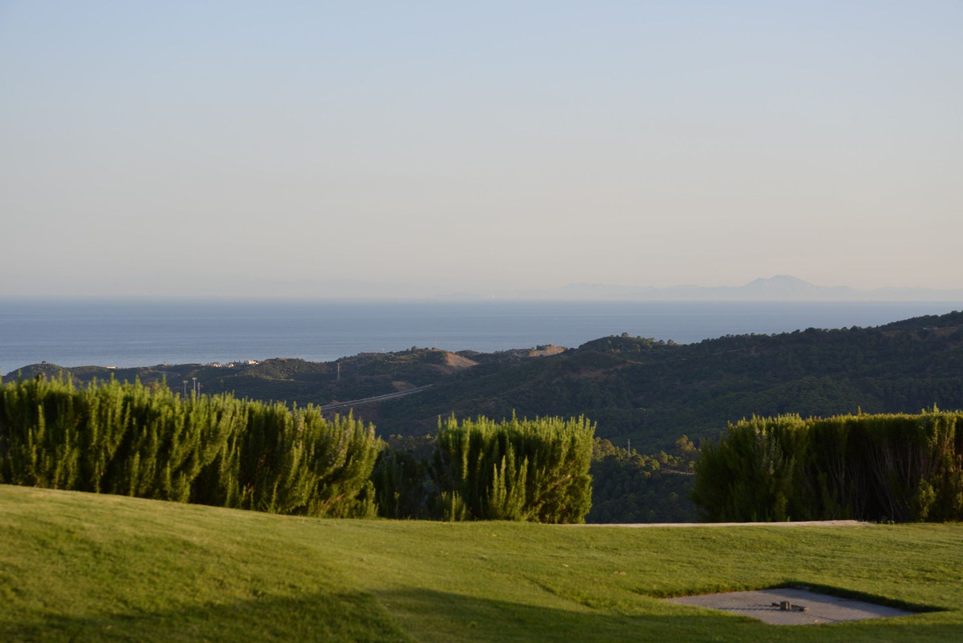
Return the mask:
[[491, 351], [630, 335], [698, 342], [726, 334], [872, 326], [961, 302], [345, 302], [0, 299], [0, 373], [40, 361], [149, 366], [412, 346]]

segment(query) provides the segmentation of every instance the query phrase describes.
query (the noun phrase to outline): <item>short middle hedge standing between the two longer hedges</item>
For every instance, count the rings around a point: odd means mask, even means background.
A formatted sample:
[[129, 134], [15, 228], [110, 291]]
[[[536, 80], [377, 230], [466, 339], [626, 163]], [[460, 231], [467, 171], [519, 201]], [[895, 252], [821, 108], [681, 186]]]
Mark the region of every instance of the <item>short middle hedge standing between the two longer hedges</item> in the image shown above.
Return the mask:
[[382, 516], [583, 523], [594, 424], [584, 418], [439, 423], [428, 457], [388, 451], [374, 479]]

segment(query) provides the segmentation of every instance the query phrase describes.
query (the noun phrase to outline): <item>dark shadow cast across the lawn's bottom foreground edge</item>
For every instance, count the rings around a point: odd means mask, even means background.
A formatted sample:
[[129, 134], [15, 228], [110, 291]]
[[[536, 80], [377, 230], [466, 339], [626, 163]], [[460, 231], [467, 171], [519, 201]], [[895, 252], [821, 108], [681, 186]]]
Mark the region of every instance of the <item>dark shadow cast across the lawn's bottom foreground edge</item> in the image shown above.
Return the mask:
[[[376, 598], [377, 596], [377, 598]], [[370, 594], [262, 596], [225, 604], [189, 604], [145, 613], [91, 617], [0, 617], [0, 640], [93, 641], [955, 641], [960, 619], [921, 616], [831, 626], [768, 626], [754, 619], [649, 599], [646, 613], [623, 615], [481, 599], [403, 588]], [[942, 622], [941, 622], [942, 621]]]

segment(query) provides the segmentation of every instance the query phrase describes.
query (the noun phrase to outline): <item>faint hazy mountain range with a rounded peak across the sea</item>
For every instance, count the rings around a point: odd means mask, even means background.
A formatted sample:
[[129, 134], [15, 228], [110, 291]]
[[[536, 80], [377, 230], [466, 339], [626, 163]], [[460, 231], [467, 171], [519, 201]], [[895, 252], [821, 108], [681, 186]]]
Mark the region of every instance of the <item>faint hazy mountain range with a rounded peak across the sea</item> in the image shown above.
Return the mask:
[[671, 286], [668, 288], [569, 284], [556, 290], [530, 291], [517, 298], [595, 300], [728, 300], [728, 301], [963, 301], [963, 288], [876, 288], [817, 286], [788, 274], [753, 279], [744, 286]]

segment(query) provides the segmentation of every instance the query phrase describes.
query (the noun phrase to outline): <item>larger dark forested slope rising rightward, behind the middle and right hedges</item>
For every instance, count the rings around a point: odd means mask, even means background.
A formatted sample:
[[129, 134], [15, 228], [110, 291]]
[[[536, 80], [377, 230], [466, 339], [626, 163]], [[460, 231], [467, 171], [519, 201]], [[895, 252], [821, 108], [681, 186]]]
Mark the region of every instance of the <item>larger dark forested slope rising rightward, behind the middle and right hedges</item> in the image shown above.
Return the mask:
[[627, 335], [539, 360], [480, 365], [386, 402], [386, 431], [434, 418], [585, 414], [598, 435], [640, 452], [716, 435], [757, 415], [820, 416], [963, 407], [963, 313], [874, 328], [738, 335], [675, 345]]

